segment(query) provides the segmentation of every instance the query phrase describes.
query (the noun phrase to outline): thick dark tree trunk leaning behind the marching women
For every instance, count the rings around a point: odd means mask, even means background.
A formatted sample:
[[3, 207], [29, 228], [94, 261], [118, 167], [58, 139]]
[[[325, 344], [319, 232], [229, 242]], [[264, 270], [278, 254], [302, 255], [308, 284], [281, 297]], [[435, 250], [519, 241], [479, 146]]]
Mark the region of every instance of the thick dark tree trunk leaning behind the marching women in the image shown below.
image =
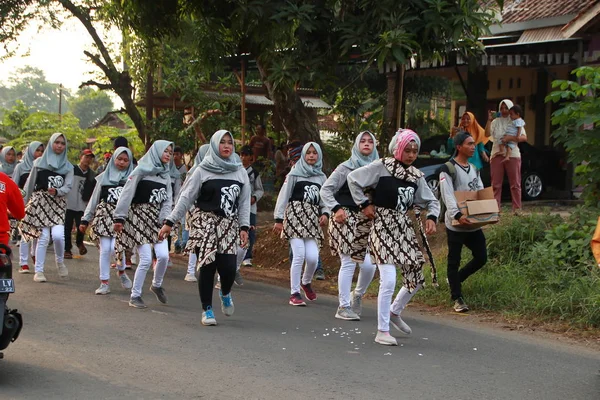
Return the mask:
[[275, 111], [281, 119], [288, 139], [290, 141], [299, 140], [302, 143], [317, 142], [322, 145], [319, 129], [304, 107], [298, 93], [293, 89], [274, 88], [273, 84], [269, 82], [267, 67], [260, 60], [256, 60], [256, 65], [261, 79], [267, 87], [269, 97], [275, 104]]

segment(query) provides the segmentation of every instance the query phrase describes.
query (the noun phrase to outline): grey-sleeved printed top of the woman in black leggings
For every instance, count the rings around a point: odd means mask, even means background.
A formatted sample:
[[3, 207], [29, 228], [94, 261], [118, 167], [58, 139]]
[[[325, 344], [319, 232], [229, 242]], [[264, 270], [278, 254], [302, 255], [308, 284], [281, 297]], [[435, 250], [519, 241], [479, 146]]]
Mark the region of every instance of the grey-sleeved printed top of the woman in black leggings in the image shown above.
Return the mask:
[[[188, 175], [185, 184], [181, 188], [179, 193], [179, 199], [177, 204], [173, 208], [173, 211], [166, 217], [169, 225], [173, 225], [175, 222], [180, 221], [185, 213], [192, 207], [194, 203], [198, 201], [198, 196], [201, 194], [202, 186], [206, 185], [209, 181], [216, 182], [227, 182], [231, 181], [241, 183], [241, 190], [236, 198], [233, 198], [233, 194], [236, 191], [228, 191], [227, 189], [231, 186], [223, 186], [219, 192], [219, 198], [206, 199], [206, 204], [220, 204], [221, 207], [225, 207], [223, 210], [226, 214], [228, 211], [237, 213], [238, 220], [241, 228], [250, 227], [250, 181], [248, 180], [248, 173], [245, 169], [240, 168], [235, 172], [229, 172], [226, 174], [216, 174], [205, 170], [204, 168], [196, 168], [192, 175]], [[216, 203], [215, 203], [216, 202]], [[237, 210], [235, 207], [230, 207], [232, 203], [237, 204]], [[196, 204], [199, 208], [203, 208], [202, 204]]]

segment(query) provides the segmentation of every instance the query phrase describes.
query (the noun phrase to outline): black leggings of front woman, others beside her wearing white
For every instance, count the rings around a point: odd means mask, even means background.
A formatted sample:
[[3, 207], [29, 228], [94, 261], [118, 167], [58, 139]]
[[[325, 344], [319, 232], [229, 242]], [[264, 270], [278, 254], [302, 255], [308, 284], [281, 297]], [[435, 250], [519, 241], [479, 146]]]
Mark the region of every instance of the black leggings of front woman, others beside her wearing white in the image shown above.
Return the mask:
[[200, 268], [198, 291], [200, 292], [200, 301], [204, 311], [208, 307], [212, 307], [212, 292], [216, 272], [219, 272], [221, 277], [221, 292], [223, 295], [228, 295], [231, 292], [236, 271], [235, 258], [235, 254], [217, 254], [215, 261]]

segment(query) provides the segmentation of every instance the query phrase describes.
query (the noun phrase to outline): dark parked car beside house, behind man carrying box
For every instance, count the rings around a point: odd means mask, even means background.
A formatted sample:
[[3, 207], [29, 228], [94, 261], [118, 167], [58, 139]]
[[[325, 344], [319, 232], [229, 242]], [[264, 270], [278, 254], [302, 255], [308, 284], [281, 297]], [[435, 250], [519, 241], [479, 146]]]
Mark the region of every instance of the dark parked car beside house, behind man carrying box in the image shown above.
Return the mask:
[[[521, 190], [524, 200], [539, 199], [549, 186], [561, 187], [565, 171], [560, 154], [556, 149], [538, 149], [527, 142], [519, 143], [521, 150]], [[439, 169], [449, 158], [419, 158], [415, 166], [424, 174], [429, 187], [439, 198]], [[484, 163], [481, 180], [485, 187], [491, 186], [489, 163]], [[510, 197], [508, 178], [504, 179], [503, 196]]]

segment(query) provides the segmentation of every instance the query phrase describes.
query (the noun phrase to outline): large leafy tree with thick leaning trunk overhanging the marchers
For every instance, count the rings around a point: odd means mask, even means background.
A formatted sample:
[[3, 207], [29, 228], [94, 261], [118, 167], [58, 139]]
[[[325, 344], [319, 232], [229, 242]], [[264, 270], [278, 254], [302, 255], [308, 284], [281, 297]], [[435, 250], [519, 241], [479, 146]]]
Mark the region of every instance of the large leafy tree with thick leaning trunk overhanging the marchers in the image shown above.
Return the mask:
[[[493, 2], [499, 6], [502, 1]], [[141, 36], [161, 40], [192, 25], [186, 39], [207, 65], [249, 54], [290, 138], [320, 142], [296, 87], [319, 87], [340, 62], [404, 64], [481, 51], [493, 14], [478, 0], [131, 0], [123, 9]]]

